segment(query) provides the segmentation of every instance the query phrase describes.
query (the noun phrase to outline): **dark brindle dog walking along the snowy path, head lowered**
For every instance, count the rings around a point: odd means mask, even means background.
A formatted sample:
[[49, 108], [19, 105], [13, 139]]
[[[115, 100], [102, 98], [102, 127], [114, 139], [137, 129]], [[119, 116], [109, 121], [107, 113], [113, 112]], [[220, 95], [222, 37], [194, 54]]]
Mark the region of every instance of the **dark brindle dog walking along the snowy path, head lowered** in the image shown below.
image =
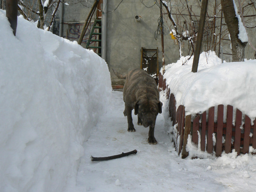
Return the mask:
[[157, 144], [154, 136], [155, 120], [162, 113], [157, 83], [143, 69], [133, 69], [127, 74], [124, 84], [124, 116], [127, 116], [128, 131], [136, 131], [132, 123], [132, 109], [138, 114], [138, 125], [149, 126], [148, 143]]

